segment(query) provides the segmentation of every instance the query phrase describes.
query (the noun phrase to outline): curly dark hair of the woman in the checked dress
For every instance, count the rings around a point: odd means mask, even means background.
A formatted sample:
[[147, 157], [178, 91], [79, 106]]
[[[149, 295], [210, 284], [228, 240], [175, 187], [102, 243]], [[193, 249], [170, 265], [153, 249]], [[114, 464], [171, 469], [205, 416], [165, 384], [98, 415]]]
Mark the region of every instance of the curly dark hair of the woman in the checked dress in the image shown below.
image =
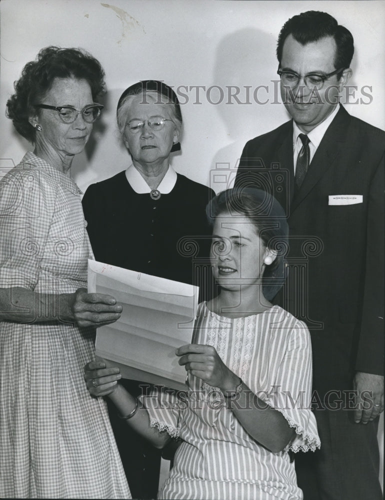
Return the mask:
[[27, 62], [21, 76], [13, 83], [15, 93], [6, 103], [6, 116], [29, 142], [35, 141], [35, 129], [28, 118], [35, 114], [31, 105], [39, 102], [55, 78], [84, 79], [91, 87], [92, 98], [105, 92], [104, 70], [97, 59], [80, 48], [42, 48], [34, 61]]

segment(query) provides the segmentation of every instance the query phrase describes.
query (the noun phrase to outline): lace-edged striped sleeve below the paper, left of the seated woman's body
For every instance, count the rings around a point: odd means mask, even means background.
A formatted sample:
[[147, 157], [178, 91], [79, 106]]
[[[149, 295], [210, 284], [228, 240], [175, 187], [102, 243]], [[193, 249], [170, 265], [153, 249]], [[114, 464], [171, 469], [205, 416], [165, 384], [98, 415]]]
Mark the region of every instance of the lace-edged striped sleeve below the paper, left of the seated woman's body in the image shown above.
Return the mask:
[[183, 401], [175, 391], [155, 385], [138, 399], [148, 411], [151, 427], [156, 427], [160, 432], [165, 430], [171, 437], [179, 437], [179, 415]]

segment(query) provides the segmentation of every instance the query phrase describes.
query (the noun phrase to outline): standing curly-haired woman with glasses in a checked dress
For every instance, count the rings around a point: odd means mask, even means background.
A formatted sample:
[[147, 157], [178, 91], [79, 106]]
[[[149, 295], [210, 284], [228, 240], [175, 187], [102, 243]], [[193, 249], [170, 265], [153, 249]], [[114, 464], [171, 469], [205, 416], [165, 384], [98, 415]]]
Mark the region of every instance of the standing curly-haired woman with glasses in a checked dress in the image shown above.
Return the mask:
[[108, 413], [84, 389], [95, 326], [120, 306], [87, 294], [80, 190], [71, 163], [103, 107], [90, 54], [46, 47], [7, 101], [33, 143], [0, 182], [0, 497], [127, 498]]

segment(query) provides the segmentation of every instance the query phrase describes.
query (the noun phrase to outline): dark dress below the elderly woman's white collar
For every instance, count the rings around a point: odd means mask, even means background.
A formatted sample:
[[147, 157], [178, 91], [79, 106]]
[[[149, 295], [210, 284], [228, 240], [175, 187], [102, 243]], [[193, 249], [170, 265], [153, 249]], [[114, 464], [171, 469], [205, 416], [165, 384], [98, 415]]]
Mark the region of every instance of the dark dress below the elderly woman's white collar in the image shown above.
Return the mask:
[[[125, 171], [90, 185], [82, 199], [96, 260], [146, 274], [199, 285], [199, 300], [212, 296], [208, 262], [211, 230], [205, 207], [212, 189], [177, 174], [168, 194], [138, 194]], [[134, 395], [140, 382], [124, 380]], [[133, 498], [155, 498], [160, 451], [117, 418], [111, 425]]]

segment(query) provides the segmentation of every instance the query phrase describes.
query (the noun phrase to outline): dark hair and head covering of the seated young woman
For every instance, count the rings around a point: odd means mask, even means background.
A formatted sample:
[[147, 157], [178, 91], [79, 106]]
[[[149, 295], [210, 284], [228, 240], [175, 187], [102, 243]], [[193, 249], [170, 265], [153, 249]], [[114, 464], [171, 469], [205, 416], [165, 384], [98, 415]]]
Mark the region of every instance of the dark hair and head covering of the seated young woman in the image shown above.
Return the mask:
[[233, 187], [220, 192], [207, 204], [206, 216], [211, 227], [222, 213], [234, 217], [246, 216], [263, 244], [277, 252], [262, 276], [263, 295], [271, 300], [283, 285], [286, 275], [284, 256], [288, 249], [288, 225], [283, 208], [273, 196], [261, 189]]

